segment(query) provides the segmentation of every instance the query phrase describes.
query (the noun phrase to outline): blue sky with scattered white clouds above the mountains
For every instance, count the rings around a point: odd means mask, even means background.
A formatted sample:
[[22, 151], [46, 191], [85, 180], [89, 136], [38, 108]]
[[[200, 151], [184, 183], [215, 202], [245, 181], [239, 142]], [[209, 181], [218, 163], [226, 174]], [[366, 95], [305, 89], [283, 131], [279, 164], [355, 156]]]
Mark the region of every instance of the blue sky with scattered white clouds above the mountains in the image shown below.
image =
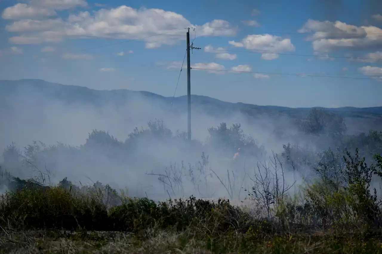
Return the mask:
[[[202, 49], [191, 66], [220, 71], [191, 70], [192, 94], [258, 105], [382, 106], [377, 0], [0, 0], [0, 11], [0, 79], [172, 96], [185, 28], [195, 27], [190, 37]], [[176, 96], [185, 94], [183, 71]]]

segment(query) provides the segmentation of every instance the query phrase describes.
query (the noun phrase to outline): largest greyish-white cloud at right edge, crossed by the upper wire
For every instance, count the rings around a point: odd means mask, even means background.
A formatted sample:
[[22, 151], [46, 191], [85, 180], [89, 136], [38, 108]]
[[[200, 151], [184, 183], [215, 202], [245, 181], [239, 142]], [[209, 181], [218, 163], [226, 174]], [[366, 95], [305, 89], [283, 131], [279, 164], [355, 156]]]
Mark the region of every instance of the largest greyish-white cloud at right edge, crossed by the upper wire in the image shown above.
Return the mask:
[[308, 21], [298, 32], [314, 32], [306, 40], [312, 41], [314, 51], [367, 50], [382, 47], [382, 29], [375, 26], [353, 26], [341, 21]]

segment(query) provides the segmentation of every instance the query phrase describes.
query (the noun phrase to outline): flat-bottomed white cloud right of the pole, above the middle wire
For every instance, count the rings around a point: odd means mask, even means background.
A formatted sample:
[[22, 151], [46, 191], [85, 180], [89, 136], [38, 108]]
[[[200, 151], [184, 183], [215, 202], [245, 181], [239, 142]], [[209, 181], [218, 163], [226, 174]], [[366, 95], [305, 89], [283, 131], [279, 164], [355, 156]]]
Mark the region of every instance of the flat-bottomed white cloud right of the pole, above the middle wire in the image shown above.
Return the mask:
[[[243, 47], [248, 50], [264, 51], [262, 59], [272, 60], [278, 58], [274, 53], [295, 51], [295, 46], [290, 39], [270, 34], [247, 35], [241, 42], [229, 41], [234, 47]], [[273, 53], [273, 54], [272, 54]]]

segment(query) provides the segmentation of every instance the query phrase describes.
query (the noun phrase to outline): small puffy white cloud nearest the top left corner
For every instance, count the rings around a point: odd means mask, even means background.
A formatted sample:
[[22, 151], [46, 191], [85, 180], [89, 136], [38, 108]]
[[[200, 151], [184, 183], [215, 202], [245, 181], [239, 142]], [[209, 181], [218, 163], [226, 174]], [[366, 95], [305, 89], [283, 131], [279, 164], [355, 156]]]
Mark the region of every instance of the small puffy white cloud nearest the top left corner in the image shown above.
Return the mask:
[[2, 14], [3, 19], [25, 19], [25, 18], [41, 18], [46, 16], [54, 16], [57, 13], [54, 10], [39, 8], [37, 6], [28, 6], [25, 3], [17, 3], [16, 5], [5, 8]]

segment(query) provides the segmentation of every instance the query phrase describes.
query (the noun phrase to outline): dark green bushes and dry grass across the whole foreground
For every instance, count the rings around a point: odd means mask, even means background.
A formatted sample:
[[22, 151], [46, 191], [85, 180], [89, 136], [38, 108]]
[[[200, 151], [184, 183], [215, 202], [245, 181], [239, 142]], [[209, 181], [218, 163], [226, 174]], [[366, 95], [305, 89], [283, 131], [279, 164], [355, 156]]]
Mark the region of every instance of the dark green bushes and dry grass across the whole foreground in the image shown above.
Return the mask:
[[256, 219], [228, 201], [196, 198], [156, 204], [101, 191], [28, 186], [0, 200], [0, 253], [382, 253], [367, 223], [328, 226]]

